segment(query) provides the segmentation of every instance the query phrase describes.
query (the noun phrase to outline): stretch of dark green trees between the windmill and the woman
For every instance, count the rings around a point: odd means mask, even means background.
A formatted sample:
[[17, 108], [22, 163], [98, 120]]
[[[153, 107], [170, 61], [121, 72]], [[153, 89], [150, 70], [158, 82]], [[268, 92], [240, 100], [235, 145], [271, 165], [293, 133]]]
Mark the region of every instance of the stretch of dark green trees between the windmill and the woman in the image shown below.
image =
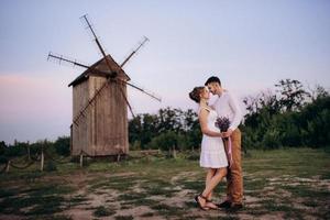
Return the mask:
[[130, 143], [135, 148], [138, 143], [141, 148], [157, 147], [158, 143], [166, 148], [175, 140], [176, 147], [184, 150], [198, 147], [201, 139], [196, 112], [169, 107], [160, 109], [157, 114], [139, 114], [129, 121], [129, 132]]

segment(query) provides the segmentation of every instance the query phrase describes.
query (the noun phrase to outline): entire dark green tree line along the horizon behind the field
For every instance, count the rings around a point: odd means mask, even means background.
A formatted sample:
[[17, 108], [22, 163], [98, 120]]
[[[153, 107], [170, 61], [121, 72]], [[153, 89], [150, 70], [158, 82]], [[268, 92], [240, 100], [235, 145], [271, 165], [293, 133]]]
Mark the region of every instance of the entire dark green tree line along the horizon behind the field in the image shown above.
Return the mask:
[[[330, 96], [321, 86], [306, 89], [298, 80], [283, 79], [274, 90], [261, 91], [243, 99], [246, 108], [242, 146], [248, 148], [329, 147]], [[138, 114], [129, 121], [131, 150], [196, 150], [201, 132], [195, 110], [160, 109], [157, 113]], [[69, 136], [35, 143], [0, 142], [0, 162], [8, 157], [37, 153], [40, 147], [58, 155], [69, 155]]]

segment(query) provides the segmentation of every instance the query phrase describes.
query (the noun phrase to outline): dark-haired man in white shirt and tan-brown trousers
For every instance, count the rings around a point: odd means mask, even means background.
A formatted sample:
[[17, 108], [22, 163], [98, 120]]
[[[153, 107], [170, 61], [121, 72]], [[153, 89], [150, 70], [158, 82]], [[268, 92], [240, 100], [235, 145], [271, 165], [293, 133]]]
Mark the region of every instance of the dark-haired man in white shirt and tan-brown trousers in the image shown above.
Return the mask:
[[228, 169], [227, 175], [227, 199], [218, 205], [220, 208], [231, 208], [239, 210], [243, 207], [243, 176], [241, 164], [241, 131], [238, 129], [242, 121], [242, 112], [235, 98], [230, 91], [221, 87], [218, 77], [208, 78], [205, 86], [209, 88], [212, 95], [218, 96], [212, 105], [218, 117], [227, 117], [230, 120], [230, 127], [226, 132], [226, 136], [231, 139], [232, 161], [233, 164]]

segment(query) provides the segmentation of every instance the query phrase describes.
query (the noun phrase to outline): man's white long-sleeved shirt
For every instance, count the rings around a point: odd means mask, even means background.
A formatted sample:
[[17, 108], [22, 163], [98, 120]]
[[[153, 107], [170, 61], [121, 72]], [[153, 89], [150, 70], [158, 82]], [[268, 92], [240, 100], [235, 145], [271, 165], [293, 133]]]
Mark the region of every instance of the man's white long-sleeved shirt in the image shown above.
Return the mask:
[[233, 131], [240, 125], [243, 119], [242, 111], [237, 99], [229, 91], [223, 91], [212, 106], [218, 117], [227, 117], [229, 119], [229, 129]]

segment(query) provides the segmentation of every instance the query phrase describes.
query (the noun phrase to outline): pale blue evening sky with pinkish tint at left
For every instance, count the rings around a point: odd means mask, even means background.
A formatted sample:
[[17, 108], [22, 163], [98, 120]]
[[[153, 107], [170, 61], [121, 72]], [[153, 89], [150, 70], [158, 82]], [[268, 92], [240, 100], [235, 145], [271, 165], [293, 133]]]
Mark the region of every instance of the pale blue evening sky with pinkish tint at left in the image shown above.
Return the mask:
[[136, 114], [196, 108], [188, 92], [212, 75], [239, 100], [286, 78], [329, 89], [329, 11], [328, 0], [1, 0], [0, 141], [69, 135], [68, 84], [84, 69], [47, 54], [101, 58], [84, 14], [118, 63], [150, 38], [124, 70], [163, 101], [129, 88]]

